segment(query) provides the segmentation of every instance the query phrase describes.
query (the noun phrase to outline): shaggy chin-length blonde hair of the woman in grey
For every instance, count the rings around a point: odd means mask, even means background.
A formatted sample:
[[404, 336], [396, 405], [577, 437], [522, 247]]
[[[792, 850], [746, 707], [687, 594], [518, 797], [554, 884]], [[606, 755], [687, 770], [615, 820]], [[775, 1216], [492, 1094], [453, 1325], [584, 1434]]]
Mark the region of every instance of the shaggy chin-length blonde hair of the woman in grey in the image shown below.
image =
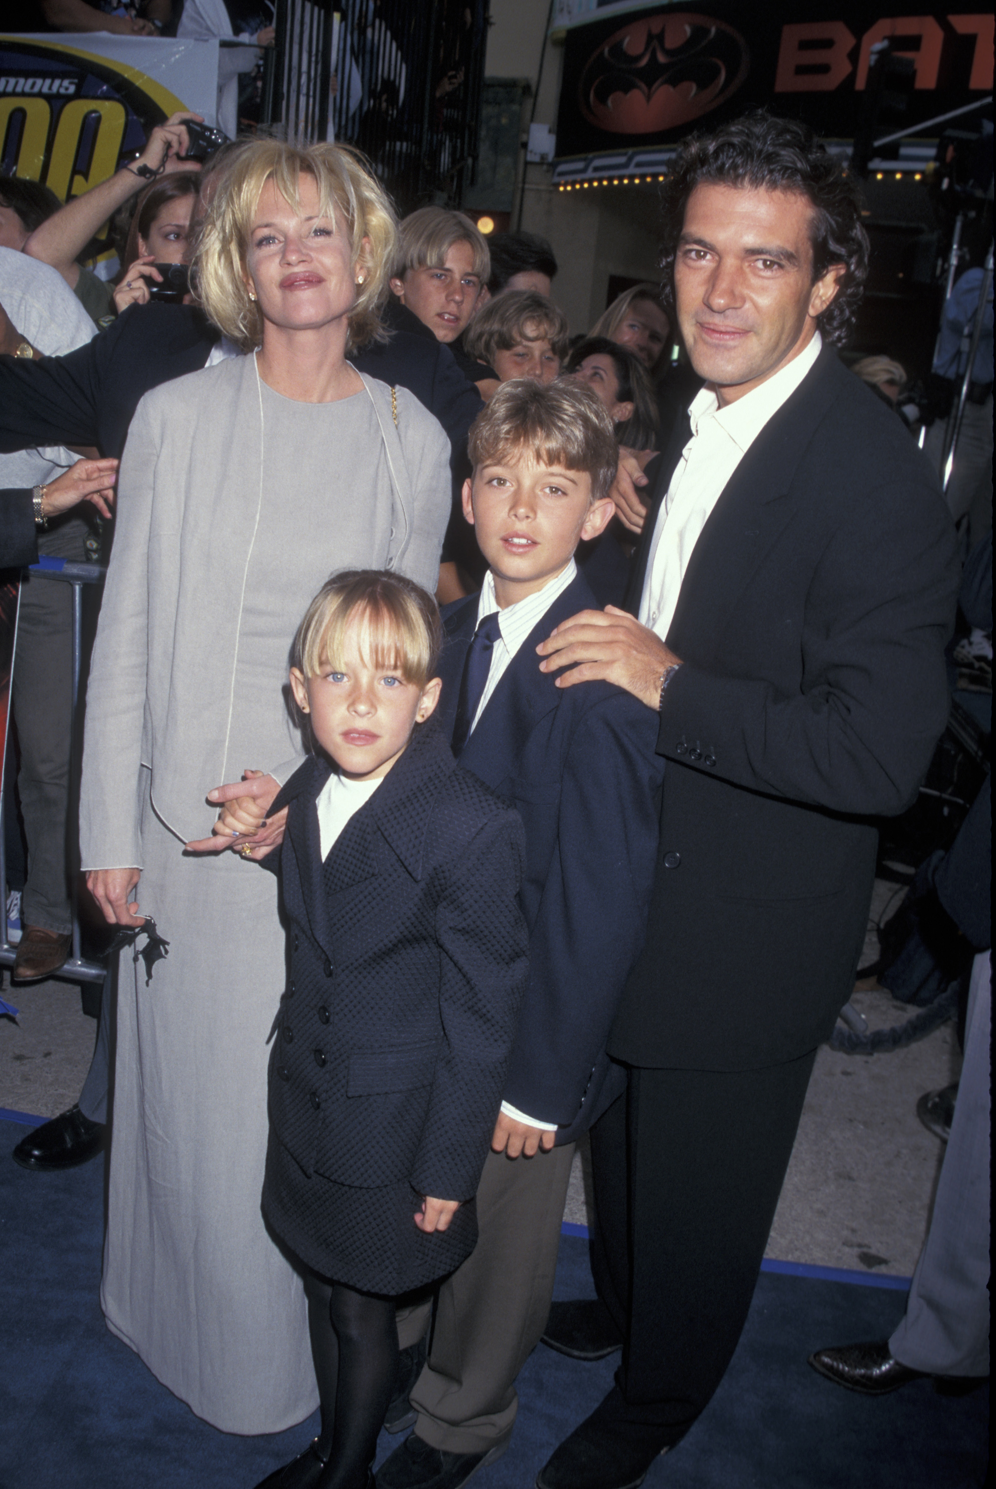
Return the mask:
[[[320, 211], [345, 228], [353, 244], [353, 271], [363, 270], [350, 313], [347, 350], [380, 339], [380, 307], [398, 247], [395, 210], [359, 152], [345, 144], [284, 144], [256, 140], [240, 150], [211, 198], [194, 259], [197, 296], [214, 325], [252, 351], [262, 342], [264, 317], [249, 298], [247, 252], [259, 197], [266, 182], [299, 211], [299, 182], [311, 176]], [[363, 246], [363, 238], [369, 246]]]

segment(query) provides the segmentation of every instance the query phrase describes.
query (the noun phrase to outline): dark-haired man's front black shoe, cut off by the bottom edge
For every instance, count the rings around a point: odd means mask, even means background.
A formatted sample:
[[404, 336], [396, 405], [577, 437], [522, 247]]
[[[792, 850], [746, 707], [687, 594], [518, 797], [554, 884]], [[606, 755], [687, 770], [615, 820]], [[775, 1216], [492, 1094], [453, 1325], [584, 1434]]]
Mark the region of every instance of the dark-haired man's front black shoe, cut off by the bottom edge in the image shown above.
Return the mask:
[[660, 1426], [627, 1419], [622, 1392], [613, 1386], [540, 1468], [536, 1489], [637, 1489], [670, 1446], [661, 1443]]

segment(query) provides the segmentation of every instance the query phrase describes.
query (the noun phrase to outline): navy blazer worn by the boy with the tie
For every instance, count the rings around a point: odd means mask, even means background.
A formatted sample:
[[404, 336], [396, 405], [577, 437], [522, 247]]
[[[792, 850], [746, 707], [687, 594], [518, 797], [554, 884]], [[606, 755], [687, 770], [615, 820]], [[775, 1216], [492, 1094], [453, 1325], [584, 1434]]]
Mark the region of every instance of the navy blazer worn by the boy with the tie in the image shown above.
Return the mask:
[[[573, 1142], [622, 1090], [604, 1045], [646, 929], [657, 856], [657, 716], [593, 682], [560, 689], [536, 646], [594, 606], [578, 576], [523, 642], [488, 698], [460, 764], [518, 807], [526, 825], [526, 1002], [505, 1099]], [[478, 596], [444, 610], [439, 704], [453, 736]]]

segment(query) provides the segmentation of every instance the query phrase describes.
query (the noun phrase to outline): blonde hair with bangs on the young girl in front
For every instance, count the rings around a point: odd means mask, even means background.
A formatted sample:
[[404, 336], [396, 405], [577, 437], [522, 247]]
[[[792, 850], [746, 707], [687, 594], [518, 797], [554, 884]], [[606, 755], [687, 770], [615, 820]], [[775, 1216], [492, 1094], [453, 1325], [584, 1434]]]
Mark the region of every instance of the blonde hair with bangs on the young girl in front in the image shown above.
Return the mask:
[[353, 616], [366, 627], [368, 661], [393, 669], [424, 688], [436, 675], [442, 622], [435, 599], [400, 573], [344, 569], [326, 579], [304, 613], [290, 648], [290, 666], [305, 677], [342, 660], [342, 640]]

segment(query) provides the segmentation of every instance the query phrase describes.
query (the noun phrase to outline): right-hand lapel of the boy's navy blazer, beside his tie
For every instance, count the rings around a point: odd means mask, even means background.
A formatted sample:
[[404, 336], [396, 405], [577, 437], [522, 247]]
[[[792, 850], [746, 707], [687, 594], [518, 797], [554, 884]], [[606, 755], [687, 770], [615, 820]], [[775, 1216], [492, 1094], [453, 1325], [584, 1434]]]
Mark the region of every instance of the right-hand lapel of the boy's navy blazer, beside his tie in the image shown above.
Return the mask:
[[[460, 755], [460, 764], [472, 770], [487, 786], [496, 788], [508, 779], [526, 740], [539, 721], [558, 707], [564, 698], [554, 680], [555, 673], [539, 670], [536, 646], [561, 621], [579, 610], [597, 608], [597, 600], [587, 579], [578, 575], [540, 616], [515, 652]], [[473, 613], [476, 615], [476, 599]], [[469, 640], [462, 648], [462, 667], [467, 645]]]

